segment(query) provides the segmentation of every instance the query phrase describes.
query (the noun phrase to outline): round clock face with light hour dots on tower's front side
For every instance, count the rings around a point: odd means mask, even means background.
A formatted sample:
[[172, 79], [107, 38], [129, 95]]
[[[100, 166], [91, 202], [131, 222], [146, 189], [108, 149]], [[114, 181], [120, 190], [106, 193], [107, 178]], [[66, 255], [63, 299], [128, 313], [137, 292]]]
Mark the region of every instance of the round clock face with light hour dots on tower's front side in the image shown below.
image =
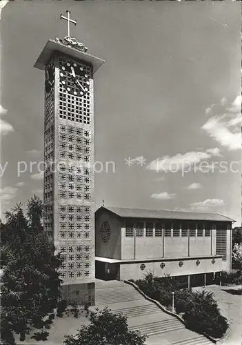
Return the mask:
[[61, 66], [59, 75], [60, 83], [68, 93], [81, 97], [89, 91], [89, 77], [81, 65], [67, 62]]

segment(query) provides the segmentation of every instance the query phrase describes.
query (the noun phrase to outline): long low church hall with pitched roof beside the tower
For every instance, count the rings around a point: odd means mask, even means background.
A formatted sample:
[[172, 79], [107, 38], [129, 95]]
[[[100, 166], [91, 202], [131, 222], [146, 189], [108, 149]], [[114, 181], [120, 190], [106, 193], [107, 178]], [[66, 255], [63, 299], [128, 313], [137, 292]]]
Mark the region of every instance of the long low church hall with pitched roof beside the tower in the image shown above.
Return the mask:
[[102, 206], [95, 213], [96, 277], [152, 272], [184, 287], [213, 284], [231, 270], [233, 222], [218, 213]]

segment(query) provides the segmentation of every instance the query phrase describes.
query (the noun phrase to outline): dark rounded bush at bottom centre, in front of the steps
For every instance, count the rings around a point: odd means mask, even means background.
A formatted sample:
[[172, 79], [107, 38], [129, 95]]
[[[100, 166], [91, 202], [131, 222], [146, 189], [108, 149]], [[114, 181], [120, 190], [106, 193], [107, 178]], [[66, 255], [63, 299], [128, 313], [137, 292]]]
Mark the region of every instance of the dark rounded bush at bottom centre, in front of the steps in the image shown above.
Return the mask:
[[129, 331], [127, 318], [108, 308], [90, 314], [90, 325], [81, 326], [77, 335], [65, 335], [65, 345], [143, 345], [145, 336]]

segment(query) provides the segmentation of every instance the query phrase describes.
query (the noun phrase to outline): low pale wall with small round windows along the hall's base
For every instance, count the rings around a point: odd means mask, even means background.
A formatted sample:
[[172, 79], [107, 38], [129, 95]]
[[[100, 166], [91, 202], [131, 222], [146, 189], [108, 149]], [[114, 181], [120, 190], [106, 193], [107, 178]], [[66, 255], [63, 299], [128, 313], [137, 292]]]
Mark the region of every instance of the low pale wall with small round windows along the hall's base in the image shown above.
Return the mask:
[[[196, 266], [196, 260], [199, 259], [199, 266]], [[141, 279], [143, 275], [152, 271], [157, 277], [164, 277], [165, 275], [180, 276], [180, 275], [194, 275], [199, 273], [213, 273], [219, 272], [222, 267], [221, 258], [214, 258], [215, 263], [212, 264], [211, 258], [197, 258], [189, 260], [172, 260], [163, 261], [164, 268], [161, 268], [161, 262], [135, 262], [120, 264], [120, 279]], [[183, 262], [183, 266], [179, 266], [179, 262]], [[145, 269], [141, 270], [141, 264], [145, 264]]]

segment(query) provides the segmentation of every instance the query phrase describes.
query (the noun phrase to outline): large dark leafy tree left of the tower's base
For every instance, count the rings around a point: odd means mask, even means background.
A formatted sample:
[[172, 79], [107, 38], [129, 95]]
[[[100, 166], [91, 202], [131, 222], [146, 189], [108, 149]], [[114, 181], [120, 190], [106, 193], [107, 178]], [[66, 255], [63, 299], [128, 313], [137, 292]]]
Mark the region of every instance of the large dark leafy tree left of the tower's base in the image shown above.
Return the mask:
[[21, 205], [8, 213], [1, 244], [4, 258], [1, 307], [6, 315], [1, 324], [1, 339], [6, 344], [5, 338], [13, 331], [20, 334], [20, 340], [25, 339], [31, 328], [41, 329], [44, 334], [44, 326], [50, 324], [47, 316], [59, 299], [61, 260], [54, 255], [54, 245], [43, 232], [43, 205], [34, 196], [27, 208], [27, 218]]

